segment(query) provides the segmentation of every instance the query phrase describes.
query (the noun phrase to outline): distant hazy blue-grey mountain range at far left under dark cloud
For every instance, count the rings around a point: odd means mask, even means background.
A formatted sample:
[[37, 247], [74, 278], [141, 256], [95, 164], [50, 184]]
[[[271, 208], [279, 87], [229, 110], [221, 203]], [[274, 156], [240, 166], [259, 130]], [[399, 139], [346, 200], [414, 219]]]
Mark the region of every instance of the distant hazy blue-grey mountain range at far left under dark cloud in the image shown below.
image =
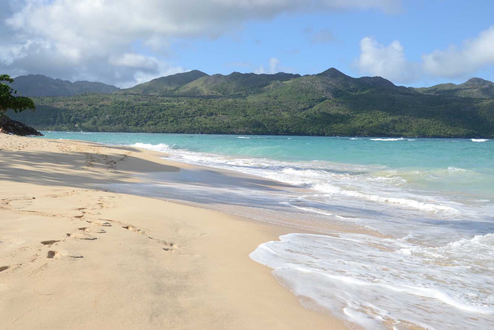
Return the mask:
[[89, 81], [76, 81], [53, 79], [43, 75], [27, 75], [14, 78], [10, 84], [23, 96], [71, 96], [82, 93], [112, 93], [119, 88]]

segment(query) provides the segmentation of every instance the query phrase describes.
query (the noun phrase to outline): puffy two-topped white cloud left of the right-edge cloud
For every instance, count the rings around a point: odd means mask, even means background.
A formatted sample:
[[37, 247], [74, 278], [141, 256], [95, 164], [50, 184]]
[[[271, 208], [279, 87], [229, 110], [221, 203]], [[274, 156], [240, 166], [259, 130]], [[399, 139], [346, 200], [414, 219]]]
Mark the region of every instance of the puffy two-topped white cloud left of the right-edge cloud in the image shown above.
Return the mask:
[[417, 78], [416, 64], [407, 61], [405, 48], [398, 40], [384, 46], [374, 38], [365, 37], [360, 41], [360, 51], [357, 65], [364, 74], [401, 83]]

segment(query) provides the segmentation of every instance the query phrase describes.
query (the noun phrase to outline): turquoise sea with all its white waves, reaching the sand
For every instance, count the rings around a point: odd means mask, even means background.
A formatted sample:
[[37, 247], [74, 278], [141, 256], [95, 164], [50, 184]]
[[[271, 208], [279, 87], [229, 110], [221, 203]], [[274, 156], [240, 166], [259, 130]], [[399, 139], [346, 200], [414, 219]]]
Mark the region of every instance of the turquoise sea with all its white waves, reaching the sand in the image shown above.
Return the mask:
[[494, 141], [43, 134], [277, 180], [281, 188], [266, 190], [182, 171], [111, 188], [324, 232], [282, 236], [250, 257], [303, 301], [351, 324], [494, 328]]

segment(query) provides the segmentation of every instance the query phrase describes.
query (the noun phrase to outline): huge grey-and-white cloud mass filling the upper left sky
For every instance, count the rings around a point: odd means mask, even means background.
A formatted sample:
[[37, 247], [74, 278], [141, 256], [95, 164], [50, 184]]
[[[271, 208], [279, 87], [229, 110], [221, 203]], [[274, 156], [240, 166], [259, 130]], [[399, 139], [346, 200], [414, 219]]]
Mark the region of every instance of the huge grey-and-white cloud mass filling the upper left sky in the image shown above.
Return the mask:
[[[180, 67], [158, 51], [170, 40], [216, 38], [284, 13], [400, 8], [400, 0], [4, 0], [0, 69], [122, 86]], [[146, 49], [136, 51], [139, 43]], [[161, 55], [166, 52], [160, 52]], [[151, 54], [151, 55], [150, 55]]]

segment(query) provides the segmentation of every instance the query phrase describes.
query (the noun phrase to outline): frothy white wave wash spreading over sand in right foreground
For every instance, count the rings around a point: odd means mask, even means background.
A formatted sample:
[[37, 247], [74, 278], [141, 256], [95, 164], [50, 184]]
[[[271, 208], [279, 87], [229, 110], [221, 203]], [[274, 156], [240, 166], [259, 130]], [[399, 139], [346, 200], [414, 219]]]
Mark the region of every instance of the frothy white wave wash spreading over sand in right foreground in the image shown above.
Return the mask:
[[259, 245], [250, 258], [273, 268], [298, 297], [366, 329], [494, 327], [493, 234], [438, 247], [359, 234], [288, 234]]

